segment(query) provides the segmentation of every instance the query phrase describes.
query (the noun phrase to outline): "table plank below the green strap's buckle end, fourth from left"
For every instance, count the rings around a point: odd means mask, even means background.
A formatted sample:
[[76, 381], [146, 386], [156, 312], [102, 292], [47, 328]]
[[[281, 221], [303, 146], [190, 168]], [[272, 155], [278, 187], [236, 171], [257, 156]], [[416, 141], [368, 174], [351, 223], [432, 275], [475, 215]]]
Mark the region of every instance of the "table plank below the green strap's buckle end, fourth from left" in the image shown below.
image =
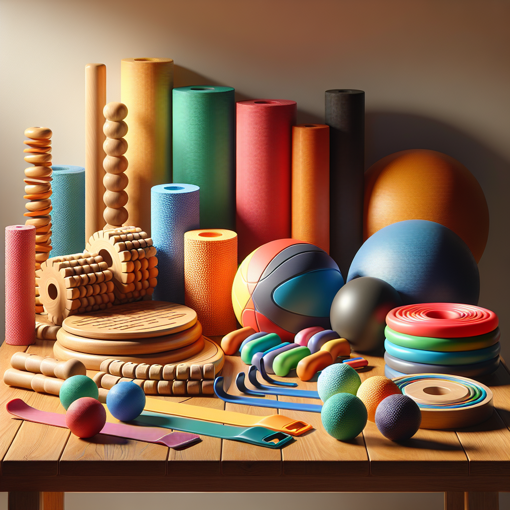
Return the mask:
[[[223, 367], [224, 388], [228, 393], [241, 395], [236, 387], [238, 372], [247, 372], [240, 356], [226, 356]], [[275, 399], [275, 397], [264, 397]], [[277, 414], [276, 409], [256, 407], [251, 405], [225, 403], [226, 411], [245, 413], [254, 416], [268, 416]], [[221, 472], [226, 476], [278, 476], [282, 474], [282, 452], [262, 446], [255, 446], [238, 441], [223, 440], [221, 451]]]

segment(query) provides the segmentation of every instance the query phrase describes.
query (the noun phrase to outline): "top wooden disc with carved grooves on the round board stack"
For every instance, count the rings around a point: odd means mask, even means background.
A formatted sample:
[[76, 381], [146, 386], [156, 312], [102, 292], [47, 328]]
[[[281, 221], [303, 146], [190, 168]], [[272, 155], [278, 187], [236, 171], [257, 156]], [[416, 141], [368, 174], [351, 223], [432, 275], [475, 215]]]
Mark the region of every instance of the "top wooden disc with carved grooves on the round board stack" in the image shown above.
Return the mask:
[[196, 312], [184, 304], [138, 301], [67, 317], [62, 327], [83, 338], [132, 340], [179, 333], [195, 323]]

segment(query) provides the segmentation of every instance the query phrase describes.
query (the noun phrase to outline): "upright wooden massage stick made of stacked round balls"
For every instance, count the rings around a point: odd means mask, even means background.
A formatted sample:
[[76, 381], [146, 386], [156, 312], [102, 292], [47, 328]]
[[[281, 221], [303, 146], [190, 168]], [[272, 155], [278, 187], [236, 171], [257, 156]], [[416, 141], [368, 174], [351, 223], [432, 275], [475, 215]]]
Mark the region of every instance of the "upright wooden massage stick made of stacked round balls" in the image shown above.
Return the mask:
[[103, 161], [103, 168], [106, 175], [103, 178], [106, 192], [103, 195], [105, 202], [105, 212], [103, 218], [106, 225], [103, 230], [112, 230], [119, 228], [126, 223], [129, 213], [125, 209], [127, 203], [127, 193], [124, 188], [129, 180], [124, 173], [127, 168], [127, 159], [125, 151], [127, 150], [127, 142], [124, 135], [127, 133], [127, 124], [123, 119], [127, 115], [127, 107], [122, 103], [108, 103], [103, 109], [106, 118], [103, 126], [103, 133], [106, 140], [103, 149], [106, 152], [106, 158]]

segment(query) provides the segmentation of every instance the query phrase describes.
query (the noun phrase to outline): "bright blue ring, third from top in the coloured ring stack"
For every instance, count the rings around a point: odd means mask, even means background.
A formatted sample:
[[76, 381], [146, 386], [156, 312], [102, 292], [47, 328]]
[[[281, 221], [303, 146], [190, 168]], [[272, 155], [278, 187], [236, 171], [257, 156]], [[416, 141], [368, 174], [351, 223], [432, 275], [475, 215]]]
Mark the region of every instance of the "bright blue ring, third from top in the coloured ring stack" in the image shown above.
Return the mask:
[[413, 363], [426, 363], [428, 365], [472, 365], [473, 363], [492, 360], [501, 350], [501, 344], [499, 342], [484, 349], [457, 352], [410, 349], [409, 347], [395, 345], [389, 340], [385, 340], [384, 346], [386, 352], [399, 360], [411, 361]]

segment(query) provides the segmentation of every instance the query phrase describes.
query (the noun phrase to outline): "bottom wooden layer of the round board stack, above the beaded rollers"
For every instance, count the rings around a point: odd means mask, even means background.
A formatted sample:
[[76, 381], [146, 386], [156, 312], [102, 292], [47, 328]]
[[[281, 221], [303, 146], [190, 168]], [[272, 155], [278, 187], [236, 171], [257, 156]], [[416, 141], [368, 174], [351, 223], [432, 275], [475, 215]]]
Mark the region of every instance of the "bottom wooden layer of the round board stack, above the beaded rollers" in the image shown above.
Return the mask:
[[205, 365], [212, 363], [215, 368], [215, 373], [219, 373], [225, 361], [225, 355], [218, 344], [203, 336], [191, 345], [181, 347], [180, 349], [153, 354], [138, 354], [136, 356], [101, 356], [99, 354], [86, 354], [84, 352], [67, 349], [60, 345], [60, 342], [57, 340], [53, 346], [53, 354], [55, 358], [60, 361], [67, 361], [71, 358], [80, 360], [87, 370], [99, 370], [103, 361], [109, 358], [115, 358], [116, 360], [124, 362], [146, 363], [147, 365], [167, 365], [170, 363]]

